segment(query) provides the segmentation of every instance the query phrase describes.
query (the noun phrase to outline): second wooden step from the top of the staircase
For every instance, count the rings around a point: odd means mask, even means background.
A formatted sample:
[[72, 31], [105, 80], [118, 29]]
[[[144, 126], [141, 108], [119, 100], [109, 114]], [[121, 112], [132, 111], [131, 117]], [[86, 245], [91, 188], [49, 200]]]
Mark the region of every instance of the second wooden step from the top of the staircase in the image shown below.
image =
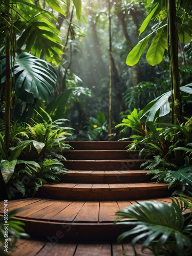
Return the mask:
[[70, 150], [63, 152], [68, 160], [73, 159], [140, 159], [139, 151], [125, 150]]

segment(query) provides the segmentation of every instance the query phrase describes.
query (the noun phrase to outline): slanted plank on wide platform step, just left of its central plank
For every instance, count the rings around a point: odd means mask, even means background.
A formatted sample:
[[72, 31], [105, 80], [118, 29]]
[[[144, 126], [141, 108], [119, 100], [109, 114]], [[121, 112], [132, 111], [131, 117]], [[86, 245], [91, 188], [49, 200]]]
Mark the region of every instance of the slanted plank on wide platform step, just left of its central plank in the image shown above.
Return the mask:
[[68, 207], [58, 212], [51, 220], [73, 222], [84, 203], [82, 201], [71, 203]]

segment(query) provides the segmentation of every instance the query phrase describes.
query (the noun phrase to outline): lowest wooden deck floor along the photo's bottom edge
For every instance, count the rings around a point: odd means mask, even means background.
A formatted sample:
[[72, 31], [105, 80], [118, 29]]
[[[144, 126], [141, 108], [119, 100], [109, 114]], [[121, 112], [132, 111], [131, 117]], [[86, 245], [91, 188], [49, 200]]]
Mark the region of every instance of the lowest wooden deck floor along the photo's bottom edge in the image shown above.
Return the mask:
[[[141, 252], [142, 244], [136, 244], [135, 249], [140, 256], [154, 255], [149, 249]], [[128, 254], [127, 254], [128, 253]], [[11, 253], [12, 256], [134, 256], [131, 243], [116, 244], [115, 242], [77, 243], [62, 241], [57, 243], [57, 237], [48, 240], [19, 239]]]

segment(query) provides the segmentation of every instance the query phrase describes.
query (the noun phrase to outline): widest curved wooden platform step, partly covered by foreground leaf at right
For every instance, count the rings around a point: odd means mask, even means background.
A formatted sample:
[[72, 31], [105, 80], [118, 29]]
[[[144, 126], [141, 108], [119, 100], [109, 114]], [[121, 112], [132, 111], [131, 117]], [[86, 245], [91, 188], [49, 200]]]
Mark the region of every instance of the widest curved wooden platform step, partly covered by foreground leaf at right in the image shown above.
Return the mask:
[[[170, 198], [154, 199], [171, 203]], [[115, 213], [137, 201], [65, 201], [33, 198], [9, 200], [9, 210], [18, 208], [13, 218], [25, 223], [25, 231], [33, 238], [52, 242], [116, 241], [117, 236], [133, 226], [114, 225]], [[0, 202], [2, 208], [4, 201]], [[3, 212], [0, 213], [3, 216]]]

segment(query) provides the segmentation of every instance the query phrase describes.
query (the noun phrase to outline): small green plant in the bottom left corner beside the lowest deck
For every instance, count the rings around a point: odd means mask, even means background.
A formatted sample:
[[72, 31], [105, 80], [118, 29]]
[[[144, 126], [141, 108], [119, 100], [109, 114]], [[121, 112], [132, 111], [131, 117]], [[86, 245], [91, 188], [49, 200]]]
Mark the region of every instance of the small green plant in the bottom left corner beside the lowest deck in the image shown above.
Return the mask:
[[[18, 239], [21, 237], [30, 237], [27, 233], [25, 233], [25, 230], [22, 227], [25, 225], [23, 222], [11, 220], [11, 218], [14, 217], [17, 212], [17, 209], [8, 212], [7, 232], [4, 225], [4, 216], [0, 217], [0, 254], [2, 256], [11, 255], [9, 252], [14, 249]], [[4, 246], [7, 246], [7, 248]]]

